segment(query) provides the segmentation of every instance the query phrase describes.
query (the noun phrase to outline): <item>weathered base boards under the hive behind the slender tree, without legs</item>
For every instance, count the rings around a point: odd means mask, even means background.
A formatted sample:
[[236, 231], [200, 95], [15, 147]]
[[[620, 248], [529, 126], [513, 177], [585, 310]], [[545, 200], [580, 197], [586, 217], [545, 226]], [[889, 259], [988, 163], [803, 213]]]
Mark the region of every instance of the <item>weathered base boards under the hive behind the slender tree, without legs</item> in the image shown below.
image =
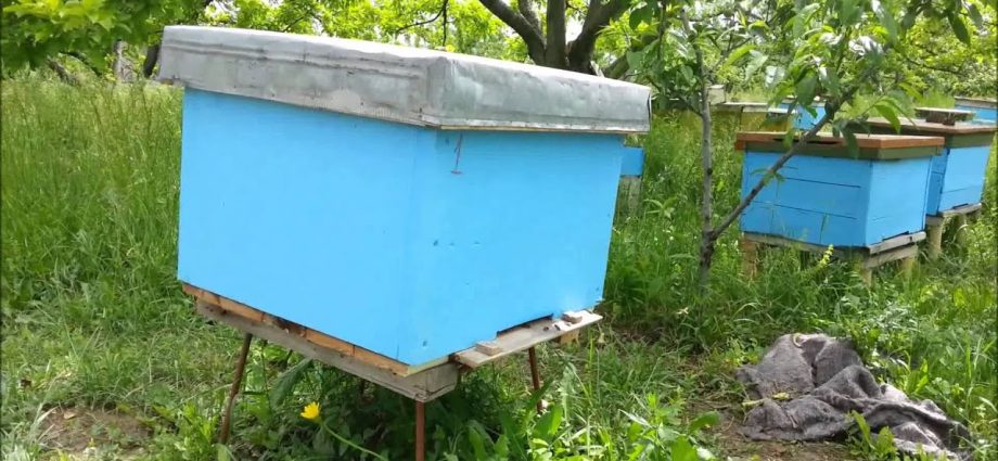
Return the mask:
[[[828, 245], [815, 245], [776, 235], [745, 232], [742, 238], [756, 243], [773, 246], [788, 246], [813, 253], [824, 253]], [[914, 257], [918, 255], [918, 242], [925, 240], [925, 232], [898, 235], [868, 247], [834, 247], [832, 254], [840, 258], [862, 258], [863, 268], [874, 268], [886, 262]]]

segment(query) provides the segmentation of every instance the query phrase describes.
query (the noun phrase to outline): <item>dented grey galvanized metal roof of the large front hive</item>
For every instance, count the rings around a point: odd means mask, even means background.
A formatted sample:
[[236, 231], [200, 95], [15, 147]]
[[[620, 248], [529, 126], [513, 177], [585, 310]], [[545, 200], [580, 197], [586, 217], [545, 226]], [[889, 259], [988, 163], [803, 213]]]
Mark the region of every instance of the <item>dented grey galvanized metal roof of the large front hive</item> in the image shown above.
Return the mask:
[[647, 87], [356, 40], [170, 26], [159, 79], [443, 129], [647, 132]]

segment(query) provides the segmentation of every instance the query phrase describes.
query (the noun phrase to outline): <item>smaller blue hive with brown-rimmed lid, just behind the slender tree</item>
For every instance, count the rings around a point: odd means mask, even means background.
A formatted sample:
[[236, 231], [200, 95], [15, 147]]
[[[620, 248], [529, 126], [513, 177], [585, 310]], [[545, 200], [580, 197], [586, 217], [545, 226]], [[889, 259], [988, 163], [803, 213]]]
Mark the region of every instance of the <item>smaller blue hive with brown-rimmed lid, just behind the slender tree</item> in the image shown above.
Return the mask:
[[[741, 132], [742, 195], [786, 151], [783, 133]], [[778, 172], [745, 209], [741, 230], [816, 245], [869, 247], [925, 225], [926, 185], [943, 139], [860, 135], [818, 136]]]

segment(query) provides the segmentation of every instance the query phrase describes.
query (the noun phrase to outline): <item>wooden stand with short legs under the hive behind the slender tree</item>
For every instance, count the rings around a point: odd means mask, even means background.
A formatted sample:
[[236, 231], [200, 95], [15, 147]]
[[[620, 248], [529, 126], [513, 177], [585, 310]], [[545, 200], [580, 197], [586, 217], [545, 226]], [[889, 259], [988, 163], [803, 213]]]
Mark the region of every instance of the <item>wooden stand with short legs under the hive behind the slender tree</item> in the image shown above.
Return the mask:
[[[853, 261], [854, 267], [868, 285], [873, 283], [873, 270], [891, 261], [900, 261], [904, 273], [910, 273], [918, 260], [919, 242], [925, 240], [925, 232], [898, 235], [880, 243], [862, 247], [833, 247], [832, 256]], [[742, 270], [748, 277], [758, 273], [759, 246], [783, 246], [805, 252], [823, 254], [828, 245], [816, 245], [782, 236], [743, 232], [739, 242], [742, 251]]]

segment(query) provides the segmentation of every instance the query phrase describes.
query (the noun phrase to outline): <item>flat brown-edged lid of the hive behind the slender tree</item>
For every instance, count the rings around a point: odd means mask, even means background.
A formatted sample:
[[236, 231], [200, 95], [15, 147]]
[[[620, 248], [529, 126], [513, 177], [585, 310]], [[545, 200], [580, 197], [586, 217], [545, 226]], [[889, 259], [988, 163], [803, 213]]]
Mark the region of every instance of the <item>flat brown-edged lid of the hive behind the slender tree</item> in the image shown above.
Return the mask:
[[[783, 139], [786, 133], [769, 131], [743, 131], [735, 137], [735, 149], [756, 152], [785, 152]], [[797, 139], [796, 137], [794, 138]], [[799, 155], [821, 157], [898, 159], [927, 157], [942, 151], [944, 140], [939, 137], [857, 135], [859, 152], [849, 152], [845, 138], [819, 135], [797, 151]]]

